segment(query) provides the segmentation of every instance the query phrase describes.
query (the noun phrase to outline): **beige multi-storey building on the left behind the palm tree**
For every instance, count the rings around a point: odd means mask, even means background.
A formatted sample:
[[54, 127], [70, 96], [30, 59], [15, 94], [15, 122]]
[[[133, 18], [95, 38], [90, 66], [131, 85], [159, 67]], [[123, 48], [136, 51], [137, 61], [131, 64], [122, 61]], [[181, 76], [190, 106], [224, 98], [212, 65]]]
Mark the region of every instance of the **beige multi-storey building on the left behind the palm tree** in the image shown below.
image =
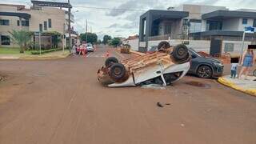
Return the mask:
[[[74, 16], [71, 14], [70, 22], [74, 22]], [[26, 9], [22, 5], [0, 4], [0, 46], [16, 47], [10, 40], [11, 30], [29, 30], [31, 32], [58, 32], [62, 35], [62, 42], [58, 46], [66, 46], [68, 37], [68, 13], [66, 10], [52, 7], [34, 7]], [[76, 38], [73, 31], [71, 38]], [[38, 42], [38, 36], [32, 38]], [[50, 35], [42, 35], [42, 46], [50, 47]]]

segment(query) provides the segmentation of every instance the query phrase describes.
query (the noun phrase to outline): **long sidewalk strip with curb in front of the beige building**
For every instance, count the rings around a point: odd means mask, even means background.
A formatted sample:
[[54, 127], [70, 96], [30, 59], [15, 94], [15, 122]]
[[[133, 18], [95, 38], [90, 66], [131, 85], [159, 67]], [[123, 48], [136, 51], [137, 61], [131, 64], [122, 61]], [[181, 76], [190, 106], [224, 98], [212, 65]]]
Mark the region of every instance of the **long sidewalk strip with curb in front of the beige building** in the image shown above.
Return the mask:
[[48, 54], [42, 55], [29, 55], [29, 54], [0, 54], [0, 59], [24, 59], [24, 60], [45, 60], [45, 59], [58, 59], [66, 58], [70, 55], [69, 50], [54, 51]]

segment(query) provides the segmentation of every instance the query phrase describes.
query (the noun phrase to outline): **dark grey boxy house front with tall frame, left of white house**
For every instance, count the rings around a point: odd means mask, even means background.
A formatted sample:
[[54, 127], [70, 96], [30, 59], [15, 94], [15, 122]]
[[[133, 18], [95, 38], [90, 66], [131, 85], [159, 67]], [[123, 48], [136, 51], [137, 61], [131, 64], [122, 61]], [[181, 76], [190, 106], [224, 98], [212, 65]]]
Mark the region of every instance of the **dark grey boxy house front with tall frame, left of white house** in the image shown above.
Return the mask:
[[182, 33], [182, 19], [189, 16], [186, 11], [148, 10], [140, 17], [139, 50], [146, 51], [150, 38], [172, 37]]

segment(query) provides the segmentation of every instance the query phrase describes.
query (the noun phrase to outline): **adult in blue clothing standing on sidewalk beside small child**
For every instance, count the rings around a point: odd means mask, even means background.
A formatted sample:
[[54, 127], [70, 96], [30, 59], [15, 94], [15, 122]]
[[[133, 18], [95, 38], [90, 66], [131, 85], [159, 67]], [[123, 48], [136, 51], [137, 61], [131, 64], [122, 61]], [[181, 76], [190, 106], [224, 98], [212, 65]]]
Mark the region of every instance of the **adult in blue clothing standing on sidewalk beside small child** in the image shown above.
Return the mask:
[[254, 50], [253, 49], [247, 49], [243, 54], [242, 54], [242, 69], [240, 71], [240, 74], [238, 75], [238, 78], [242, 78], [242, 74], [247, 75], [250, 71], [250, 68], [254, 65]]

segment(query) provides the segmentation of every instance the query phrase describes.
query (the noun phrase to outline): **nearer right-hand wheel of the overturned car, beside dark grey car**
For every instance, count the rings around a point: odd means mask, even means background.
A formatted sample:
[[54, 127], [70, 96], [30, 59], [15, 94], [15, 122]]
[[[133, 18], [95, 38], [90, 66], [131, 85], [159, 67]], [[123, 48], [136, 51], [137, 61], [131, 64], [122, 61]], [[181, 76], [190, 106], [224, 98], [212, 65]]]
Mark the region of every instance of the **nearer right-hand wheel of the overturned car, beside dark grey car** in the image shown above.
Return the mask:
[[189, 51], [185, 45], [177, 45], [174, 46], [174, 50], [172, 51], [172, 57], [177, 62], [182, 62], [188, 58]]

